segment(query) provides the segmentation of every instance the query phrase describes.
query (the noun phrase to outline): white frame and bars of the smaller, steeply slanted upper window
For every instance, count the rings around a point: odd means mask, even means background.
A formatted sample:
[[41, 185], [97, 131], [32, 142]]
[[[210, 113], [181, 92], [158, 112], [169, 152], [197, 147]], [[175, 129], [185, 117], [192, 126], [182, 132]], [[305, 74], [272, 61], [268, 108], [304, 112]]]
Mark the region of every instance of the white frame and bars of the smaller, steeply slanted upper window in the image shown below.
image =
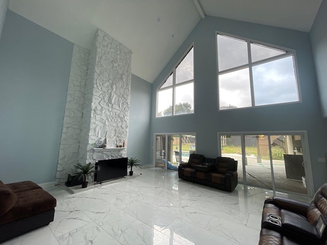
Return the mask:
[[[179, 66], [179, 64], [183, 61], [183, 59], [186, 57], [186, 55], [189, 54], [189, 52], [192, 50], [193, 48], [193, 79], [188, 80], [188, 81], [183, 81], [181, 83], [177, 83], [176, 84], [176, 68]], [[171, 117], [171, 116], [183, 116], [183, 115], [193, 115], [195, 114], [195, 58], [194, 58], [194, 42], [192, 42], [192, 44], [186, 49], [186, 52], [183, 53], [183, 55], [181, 56], [181, 58], [176, 62], [176, 64], [173, 66], [173, 68], [168, 72], [168, 75], [165, 77], [164, 81], [162, 81], [160, 83], [160, 85], [157, 87], [156, 89], [156, 112], [155, 112], [155, 118], [166, 118], [166, 117]], [[173, 75], [173, 84], [164, 88], [160, 87], [162, 85], [164, 85], [164, 83], [167, 81], [167, 79]], [[193, 113], [187, 113], [187, 114], [175, 114], [175, 88], [182, 86], [182, 85], [186, 85], [186, 84], [190, 84], [193, 83]], [[172, 88], [173, 90], [173, 100], [172, 100], [172, 115], [169, 116], [158, 116], [158, 93], [159, 91], [164, 91], [166, 89]]]

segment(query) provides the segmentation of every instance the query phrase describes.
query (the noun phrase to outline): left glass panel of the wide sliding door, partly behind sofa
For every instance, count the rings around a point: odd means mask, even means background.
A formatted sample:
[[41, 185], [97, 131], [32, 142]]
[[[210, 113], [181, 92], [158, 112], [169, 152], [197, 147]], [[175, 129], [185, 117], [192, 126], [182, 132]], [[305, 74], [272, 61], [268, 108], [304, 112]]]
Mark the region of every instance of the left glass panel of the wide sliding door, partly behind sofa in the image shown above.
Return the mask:
[[220, 145], [221, 145], [222, 157], [230, 157], [238, 161], [238, 166], [237, 166], [238, 182], [244, 183], [241, 135], [221, 135]]

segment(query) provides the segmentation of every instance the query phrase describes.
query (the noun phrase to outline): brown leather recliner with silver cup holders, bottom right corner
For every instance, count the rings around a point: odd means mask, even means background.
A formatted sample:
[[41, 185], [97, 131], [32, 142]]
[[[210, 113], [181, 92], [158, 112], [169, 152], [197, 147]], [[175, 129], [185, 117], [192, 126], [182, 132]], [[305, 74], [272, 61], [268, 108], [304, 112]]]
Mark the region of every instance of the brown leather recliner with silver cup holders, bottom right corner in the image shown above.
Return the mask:
[[[262, 212], [261, 233], [274, 231], [289, 237], [296, 242], [294, 244], [326, 244], [326, 198], [327, 183], [318, 189], [310, 204], [282, 197], [267, 199]], [[272, 240], [276, 240], [275, 237], [271, 236]]]

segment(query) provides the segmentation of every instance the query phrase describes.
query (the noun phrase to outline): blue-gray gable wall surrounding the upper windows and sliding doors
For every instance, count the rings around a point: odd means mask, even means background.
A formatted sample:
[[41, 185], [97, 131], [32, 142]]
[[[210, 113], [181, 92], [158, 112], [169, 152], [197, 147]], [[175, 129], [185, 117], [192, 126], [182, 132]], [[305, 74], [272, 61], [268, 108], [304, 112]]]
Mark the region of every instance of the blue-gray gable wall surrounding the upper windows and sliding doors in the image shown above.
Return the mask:
[[[247, 37], [297, 52], [302, 102], [218, 111], [216, 31]], [[194, 42], [195, 114], [155, 118], [156, 89]], [[307, 130], [317, 189], [327, 182], [327, 167], [318, 163], [327, 149], [326, 120], [321, 118], [309, 33], [206, 16], [179, 47], [152, 87], [151, 145], [154, 133], [196, 132], [197, 153], [218, 156], [217, 132]], [[150, 151], [152, 162], [153, 151]]]

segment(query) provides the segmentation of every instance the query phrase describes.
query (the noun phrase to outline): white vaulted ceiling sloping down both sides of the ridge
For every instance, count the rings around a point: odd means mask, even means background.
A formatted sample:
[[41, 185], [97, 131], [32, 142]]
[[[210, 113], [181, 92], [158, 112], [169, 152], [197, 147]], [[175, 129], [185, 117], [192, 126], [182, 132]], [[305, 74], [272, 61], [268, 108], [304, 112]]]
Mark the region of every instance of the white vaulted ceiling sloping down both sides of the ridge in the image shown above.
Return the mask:
[[[205, 15], [310, 32], [322, 0], [198, 0]], [[101, 28], [133, 52], [153, 82], [201, 19], [197, 0], [10, 0], [9, 9], [89, 48]]]

